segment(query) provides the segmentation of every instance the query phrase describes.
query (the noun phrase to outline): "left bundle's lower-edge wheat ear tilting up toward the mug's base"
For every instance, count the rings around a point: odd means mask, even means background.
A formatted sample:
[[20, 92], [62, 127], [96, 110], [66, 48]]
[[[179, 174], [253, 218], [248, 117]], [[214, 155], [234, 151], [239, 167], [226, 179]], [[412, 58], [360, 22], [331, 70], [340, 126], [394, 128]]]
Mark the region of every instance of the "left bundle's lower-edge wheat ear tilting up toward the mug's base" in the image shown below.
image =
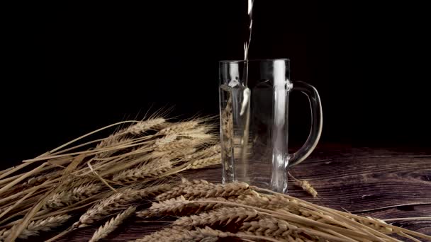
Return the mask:
[[138, 166], [137, 168], [131, 168], [117, 175], [114, 175], [113, 181], [121, 182], [134, 182], [137, 180], [143, 180], [145, 178], [154, 178], [163, 173], [169, 171], [172, 168], [172, 163], [169, 159], [155, 159], [149, 163]]

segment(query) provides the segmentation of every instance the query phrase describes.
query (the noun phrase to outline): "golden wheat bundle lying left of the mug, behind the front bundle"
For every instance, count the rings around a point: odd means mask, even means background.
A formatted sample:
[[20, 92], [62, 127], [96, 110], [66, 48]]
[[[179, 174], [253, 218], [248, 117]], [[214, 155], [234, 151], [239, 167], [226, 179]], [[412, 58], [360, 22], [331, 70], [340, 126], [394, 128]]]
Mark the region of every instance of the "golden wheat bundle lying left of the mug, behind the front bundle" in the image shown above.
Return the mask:
[[[133, 214], [142, 198], [172, 188], [182, 171], [220, 164], [211, 118], [170, 122], [164, 117], [118, 122], [0, 172], [0, 241], [108, 221], [97, 241]], [[96, 132], [120, 127], [104, 139]], [[81, 144], [78, 144], [80, 142]], [[74, 145], [74, 146], [73, 146]]]

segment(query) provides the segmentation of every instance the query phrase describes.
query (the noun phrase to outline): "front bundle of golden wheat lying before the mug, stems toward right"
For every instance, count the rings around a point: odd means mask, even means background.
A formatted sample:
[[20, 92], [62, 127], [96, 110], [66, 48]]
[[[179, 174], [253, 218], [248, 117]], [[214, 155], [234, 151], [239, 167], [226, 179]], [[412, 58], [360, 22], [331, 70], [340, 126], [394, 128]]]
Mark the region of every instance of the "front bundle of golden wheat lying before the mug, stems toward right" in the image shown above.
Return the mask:
[[431, 236], [321, 207], [296, 197], [245, 183], [215, 185], [183, 181], [174, 192], [157, 196], [138, 217], [177, 217], [167, 228], [136, 240], [217, 241], [398, 241], [390, 235], [419, 241]]

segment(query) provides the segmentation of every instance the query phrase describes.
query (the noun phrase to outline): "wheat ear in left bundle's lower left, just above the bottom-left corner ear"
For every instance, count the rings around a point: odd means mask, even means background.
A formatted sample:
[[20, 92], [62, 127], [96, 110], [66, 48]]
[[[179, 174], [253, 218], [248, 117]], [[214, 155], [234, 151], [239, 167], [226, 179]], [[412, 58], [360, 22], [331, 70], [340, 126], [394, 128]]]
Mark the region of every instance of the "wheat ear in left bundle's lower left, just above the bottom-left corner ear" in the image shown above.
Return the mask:
[[47, 200], [47, 202], [43, 205], [43, 209], [58, 209], [60, 207], [67, 207], [70, 204], [74, 204], [75, 202], [79, 202], [86, 199], [87, 197], [95, 195], [101, 189], [101, 184], [90, 183], [80, 185], [79, 187], [73, 188], [72, 190], [56, 193], [52, 195], [49, 200]]

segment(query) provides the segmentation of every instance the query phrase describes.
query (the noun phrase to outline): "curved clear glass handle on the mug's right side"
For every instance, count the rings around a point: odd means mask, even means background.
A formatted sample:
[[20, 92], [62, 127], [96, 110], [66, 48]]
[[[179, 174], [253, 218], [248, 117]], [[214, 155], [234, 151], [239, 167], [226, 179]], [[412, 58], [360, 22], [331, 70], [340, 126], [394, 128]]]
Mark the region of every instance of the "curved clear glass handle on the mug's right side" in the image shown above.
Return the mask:
[[303, 81], [294, 81], [293, 90], [298, 90], [306, 94], [308, 101], [310, 101], [311, 130], [306, 143], [303, 144], [301, 149], [298, 149], [298, 151], [293, 154], [289, 154], [287, 168], [298, 165], [298, 163], [301, 163], [313, 152], [313, 149], [319, 142], [320, 134], [322, 134], [323, 125], [322, 104], [320, 103], [318, 91], [313, 86]]

